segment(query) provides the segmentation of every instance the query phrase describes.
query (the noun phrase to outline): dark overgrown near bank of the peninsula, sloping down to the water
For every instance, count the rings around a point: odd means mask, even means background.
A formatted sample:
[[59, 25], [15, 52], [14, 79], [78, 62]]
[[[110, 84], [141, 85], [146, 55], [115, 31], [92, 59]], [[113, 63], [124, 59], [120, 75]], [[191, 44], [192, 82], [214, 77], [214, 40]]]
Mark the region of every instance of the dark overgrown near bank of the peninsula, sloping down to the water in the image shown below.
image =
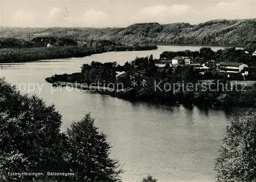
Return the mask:
[[[211, 105], [214, 107], [230, 107], [230, 105], [236, 107], [256, 107], [254, 100], [254, 92], [255, 92], [255, 81], [228, 81], [227, 83], [223, 81], [198, 81], [197, 84], [199, 89], [193, 91], [182, 91], [182, 90], [172, 90], [167, 91], [161, 90], [163, 89], [158, 85], [156, 87], [155, 93], [151, 95], [144, 94], [145, 90], [148, 89], [146, 87], [127, 87], [124, 89], [114, 89], [110, 87], [101, 87], [101, 86], [92, 86], [85, 83], [72, 83], [72, 82], [61, 82], [61, 81], [53, 81], [51, 77], [46, 78], [48, 83], [51, 83], [52, 86], [60, 86], [60, 87], [74, 87], [82, 90], [88, 90], [92, 92], [97, 92], [102, 95], [111, 95], [113, 97], [130, 100], [130, 101], [146, 101], [151, 103], [160, 103], [164, 105], [174, 105], [176, 103], [181, 103], [185, 105]], [[216, 87], [216, 83], [218, 84], [226, 84], [227, 87], [232, 88], [231, 91], [203, 91], [202, 88], [206, 86], [211, 88], [212, 85]], [[175, 83], [176, 85], [178, 83]], [[182, 83], [184, 84], [184, 83]], [[191, 83], [190, 83], [191, 84]], [[197, 85], [194, 84], [194, 85]], [[118, 83], [116, 83], [118, 85]], [[186, 84], [185, 84], [186, 85]], [[235, 90], [234, 88], [240, 88], [241, 90]], [[229, 89], [230, 89], [229, 88]], [[244, 90], [243, 90], [244, 89]], [[250, 101], [249, 101], [250, 100]]]

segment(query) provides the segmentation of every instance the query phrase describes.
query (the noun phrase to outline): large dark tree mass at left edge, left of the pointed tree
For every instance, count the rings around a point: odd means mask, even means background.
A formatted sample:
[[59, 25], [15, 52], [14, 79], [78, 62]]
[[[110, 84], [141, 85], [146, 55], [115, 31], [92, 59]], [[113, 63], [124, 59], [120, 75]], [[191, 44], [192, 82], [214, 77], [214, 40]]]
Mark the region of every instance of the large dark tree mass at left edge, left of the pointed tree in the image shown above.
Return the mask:
[[[65, 171], [65, 165], [61, 165], [61, 116], [54, 106], [46, 106], [36, 96], [21, 95], [3, 79], [0, 80], [0, 91], [1, 179], [16, 181], [16, 176], [10, 176], [8, 172]], [[23, 178], [32, 181], [41, 176]]]

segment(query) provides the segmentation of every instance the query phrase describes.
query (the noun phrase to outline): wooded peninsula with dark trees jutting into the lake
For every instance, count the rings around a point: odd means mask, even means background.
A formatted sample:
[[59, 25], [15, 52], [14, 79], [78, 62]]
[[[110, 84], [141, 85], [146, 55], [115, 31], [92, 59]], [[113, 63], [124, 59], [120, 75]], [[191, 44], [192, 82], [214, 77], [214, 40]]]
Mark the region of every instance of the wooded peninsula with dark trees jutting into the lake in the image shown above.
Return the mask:
[[[177, 67], [166, 64], [164, 67], [159, 67], [157, 64], [162, 60], [168, 60], [177, 55], [200, 57], [206, 59], [207, 66], [210, 69], [203, 71], [194, 65], [178, 65]], [[81, 72], [73, 74], [53, 75], [46, 80], [52, 84], [59, 82], [66, 83], [113, 83], [112, 92], [100, 92], [103, 94], [111, 94], [118, 98], [128, 100], [150, 101], [154, 103], [164, 103], [173, 105], [175, 103], [186, 103], [194, 105], [214, 105], [218, 106], [238, 106], [238, 107], [256, 107], [254, 100], [256, 99], [255, 71], [252, 69], [248, 75], [243, 76], [241, 73], [225, 73], [216, 69], [210, 60], [215, 58], [229, 59], [229, 56], [237, 60], [247, 60], [248, 65], [254, 65], [254, 60], [244, 53], [244, 50], [236, 48], [227, 48], [224, 50], [212, 51], [210, 48], [201, 48], [200, 51], [179, 51], [179, 52], [164, 52], [160, 55], [160, 59], [154, 59], [153, 56], [136, 58], [131, 62], [126, 62], [124, 65], [114, 63], [99, 63], [93, 61], [91, 64], [83, 64]], [[208, 61], [207, 61], [208, 60]], [[122, 74], [117, 75], [118, 72]], [[228, 76], [227, 76], [228, 75]], [[142, 83], [132, 86], [132, 82]], [[230, 82], [233, 81], [233, 82]], [[245, 87], [242, 85], [234, 85], [235, 81], [248, 81]], [[253, 81], [253, 82], [251, 82]], [[243, 83], [242, 82], [242, 83]], [[122, 89], [118, 84], [122, 84]], [[157, 83], [157, 84], [156, 84]], [[159, 83], [159, 84], [158, 84]], [[247, 83], [247, 82], [245, 82]], [[61, 84], [61, 83], [60, 83]], [[166, 85], [176, 84], [191, 84], [192, 91], [188, 89], [176, 88], [166, 89]], [[113, 86], [114, 85], [114, 86]], [[157, 88], [156, 89], [156, 85]], [[225, 88], [224, 86], [225, 85]], [[208, 90], [203, 90], [207, 86]], [[242, 91], [246, 90], [246, 92]], [[254, 99], [255, 98], [255, 99]]]

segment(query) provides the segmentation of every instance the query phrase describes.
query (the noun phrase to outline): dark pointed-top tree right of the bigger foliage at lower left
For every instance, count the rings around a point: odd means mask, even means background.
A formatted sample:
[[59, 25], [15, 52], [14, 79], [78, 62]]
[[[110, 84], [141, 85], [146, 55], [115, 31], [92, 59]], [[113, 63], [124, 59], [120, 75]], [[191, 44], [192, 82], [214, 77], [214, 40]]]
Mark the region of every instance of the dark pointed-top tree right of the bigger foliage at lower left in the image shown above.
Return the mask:
[[86, 114], [67, 131], [70, 169], [77, 181], [119, 181], [118, 161], [109, 158], [110, 144]]

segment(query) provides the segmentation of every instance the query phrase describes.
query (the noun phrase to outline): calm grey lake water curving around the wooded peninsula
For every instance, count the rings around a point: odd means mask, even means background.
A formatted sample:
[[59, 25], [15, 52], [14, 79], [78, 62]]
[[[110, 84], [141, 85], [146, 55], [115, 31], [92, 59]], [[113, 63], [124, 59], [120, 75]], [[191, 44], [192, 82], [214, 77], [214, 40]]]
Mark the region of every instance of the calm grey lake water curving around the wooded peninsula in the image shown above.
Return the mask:
[[[216, 47], [215, 47], [216, 48]], [[217, 49], [219, 49], [218, 47]], [[52, 88], [45, 81], [53, 74], [80, 71], [91, 61], [124, 64], [136, 56], [153, 54], [159, 58], [165, 50], [199, 50], [199, 46], [160, 46], [150, 51], [125, 51], [85, 58], [45, 60], [32, 63], [0, 64], [0, 74], [10, 83], [18, 83], [22, 93], [30, 84], [30, 94], [54, 103], [62, 114], [62, 130], [91, 112], [100, 131], [113, 146], [111, 157], [123, 166], [123, 181], [139, 181], [152, 174], [159, 181], [214, 181], [214, 159], [230, 119], [245, 110], [230, 111], [198, 107], [165, 107], [129, 102], [108, 95], [89, 93], [69, 87]], [[33, 89], [32, 85], [30, 85]], [[42, 87], [41, 92], [38, 88]], [[52, 91], [52, 89], [57, 89]]]

